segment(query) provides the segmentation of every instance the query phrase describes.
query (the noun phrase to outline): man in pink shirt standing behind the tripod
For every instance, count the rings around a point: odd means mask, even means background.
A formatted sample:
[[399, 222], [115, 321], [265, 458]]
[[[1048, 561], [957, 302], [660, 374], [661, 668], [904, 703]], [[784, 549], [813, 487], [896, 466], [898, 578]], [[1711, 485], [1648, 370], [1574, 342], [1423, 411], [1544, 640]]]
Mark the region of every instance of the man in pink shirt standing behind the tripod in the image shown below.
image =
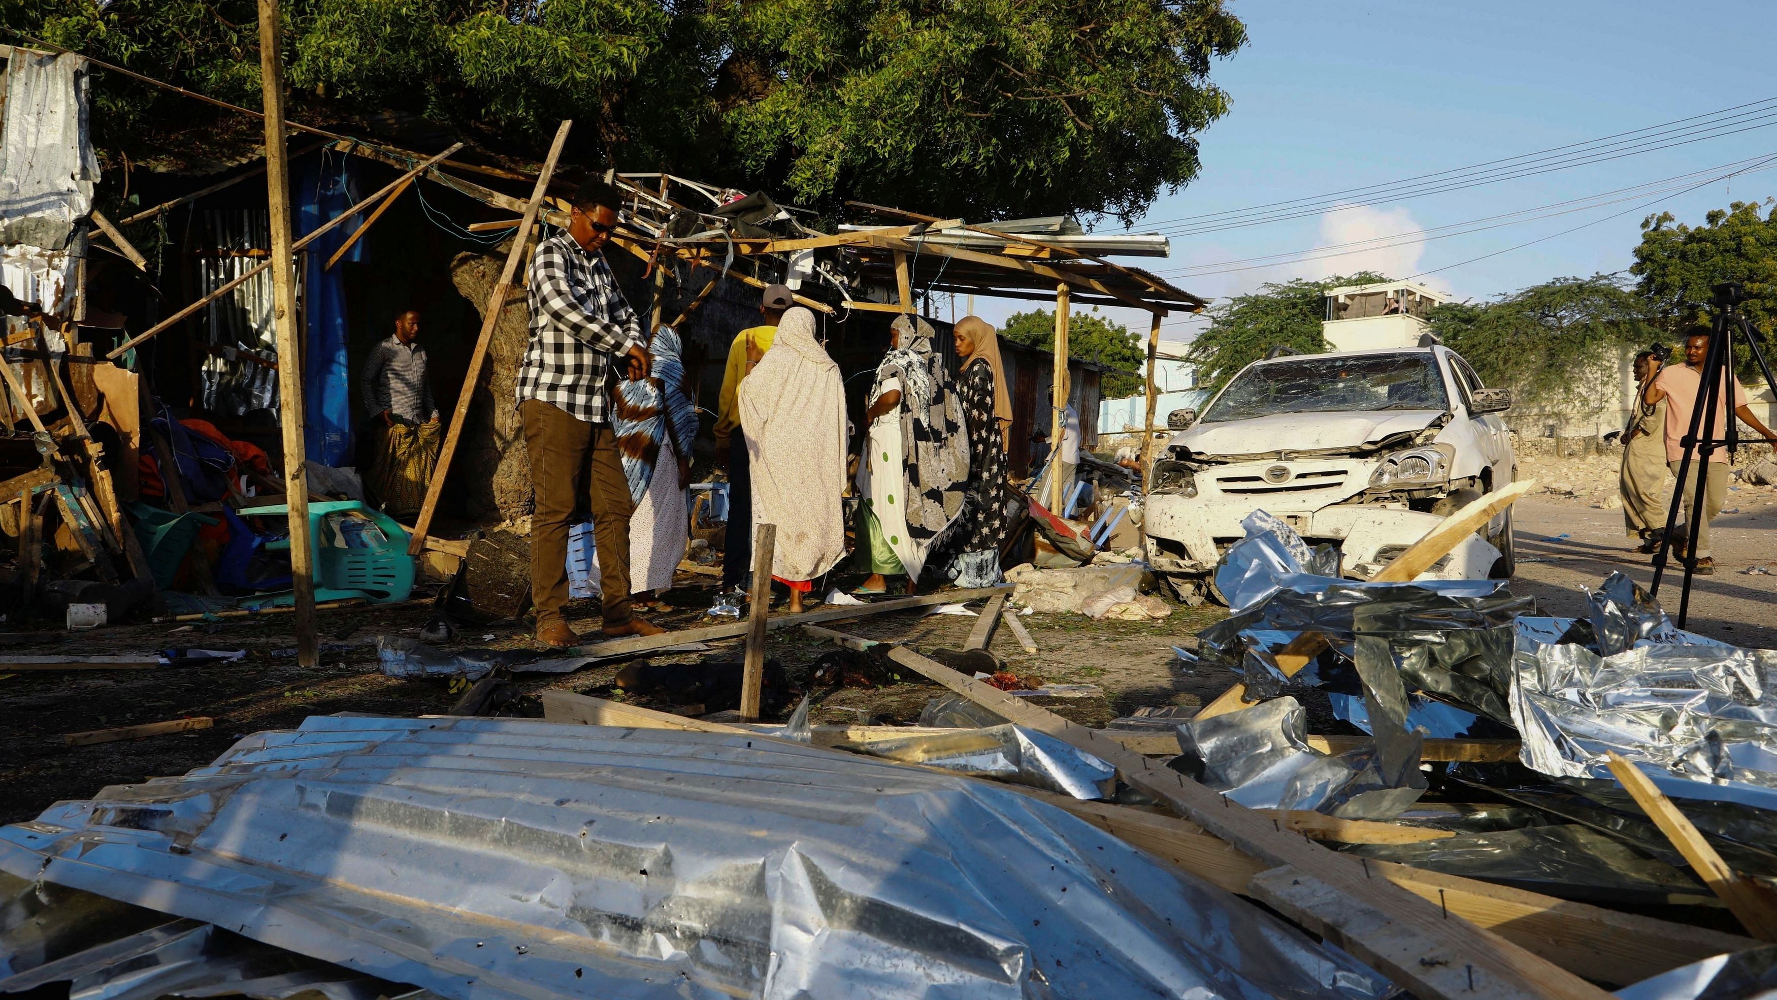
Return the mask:
[[[1692, 327], [1690, 334], [1685, 336], [1685, 364], [1669, 364], [1660, 369], [1660, 375], [1647, 384], [1642, 391], [1642, 400], [1651, 407], [1660, 400], [1667, 401], [1667, 465], [1672, 474], [1677, 476], [1679, 464], [1685, 458], [1685, 435], [1690, 433], [1690, 416], [1697, 409], [1697, 396], [1701, 396], [1702, 387], [1702, 361], [1709, 353], [1709, 327]], [[1729, 385], [1731, 384], [1731, 385]], [[1772, 435], [1772, 428], [1759, 423], [1759, 417], [1747, 405], [1747, 387], [1740, 384], [1733, 373], [1722, 373], [1722, 396], [1733, 393], [1734, 398], [1734, 416], [1745, 421], [1747, 426], [1759, 432], [1766, 440], [1777, 440]], [[1697, 435], [1702, 437], [1704, 425], [1708, 423], [1708, 414], [1704, 414], [1704, 423], [1697, 425]], [[1727, 407], [1722, 398], [1717, 396], [1715, 403], [1715, 428], [1709, 437], [1720, 440], [1727, 437]], [[1727, 499], [1727, 449], [1717, 448], [1709, 455], [1709, 471], [1704, 480], [1702, 494], [1702, 517], [1692, 506], [1697, 501], [1697, 460], [1692, 458], [1690, 476], [1677, 483], [1677, 490], [1685, 497], [1685, 522], [1690, 528], [1690, 556], [1697, 560], [1695, 572], [1713, 574], [1715, 558], [1709, 554], [1709, 520], [1717, 513], [1722, 513], [1722, 501]], [[1685, 558], [1685, 552], [1679, 552]]]

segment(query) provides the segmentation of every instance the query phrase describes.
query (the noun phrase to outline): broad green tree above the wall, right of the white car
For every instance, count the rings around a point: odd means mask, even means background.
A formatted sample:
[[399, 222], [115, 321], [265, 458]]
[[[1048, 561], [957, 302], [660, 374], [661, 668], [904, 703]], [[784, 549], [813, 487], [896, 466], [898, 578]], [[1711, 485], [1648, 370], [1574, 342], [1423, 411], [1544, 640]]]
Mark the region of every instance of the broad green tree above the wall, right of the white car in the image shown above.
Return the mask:
[[1603, 274], [1448, 302], [1432, 309], [1430, 325], [1482, 384], [1569, 403], [1615, 391], [1617, 350], [1660, 339], [1642, 297]]

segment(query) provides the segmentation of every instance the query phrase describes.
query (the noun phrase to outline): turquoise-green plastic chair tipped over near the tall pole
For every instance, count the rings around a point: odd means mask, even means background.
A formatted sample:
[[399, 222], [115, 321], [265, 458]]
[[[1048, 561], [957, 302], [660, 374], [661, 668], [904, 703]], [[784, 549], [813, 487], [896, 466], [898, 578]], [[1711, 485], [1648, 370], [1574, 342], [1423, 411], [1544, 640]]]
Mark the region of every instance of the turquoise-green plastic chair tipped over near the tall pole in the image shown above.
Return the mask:
[[[252, 506], [235, 512], [242, 517], [290, 517], [288, 504]], [[355, 517], [368, 519], [382, 533], [382, 538], [359, 535], [368, 540], [368, 547], [343, 547], [336, 540], [345, 538], [339, 526]], [[331, 531], [329, 531], [331, 528]], [[414, 591], [414, 558], [407, 554], [407, 529], [380, 510], [364, 506], [363, 501], [325, 501], [309, 504], [309, 545], [315, 551], [315, 600], [350, 600], [364, 599], [371, 604], [396, 604], [407, 600]], [[267, 551], [290, 551], [290, 538], [268, 542]], [[256, 606], [295, 604], [293, 593], [283, 593], [270, 602], [259, 593], [245, 602]]]

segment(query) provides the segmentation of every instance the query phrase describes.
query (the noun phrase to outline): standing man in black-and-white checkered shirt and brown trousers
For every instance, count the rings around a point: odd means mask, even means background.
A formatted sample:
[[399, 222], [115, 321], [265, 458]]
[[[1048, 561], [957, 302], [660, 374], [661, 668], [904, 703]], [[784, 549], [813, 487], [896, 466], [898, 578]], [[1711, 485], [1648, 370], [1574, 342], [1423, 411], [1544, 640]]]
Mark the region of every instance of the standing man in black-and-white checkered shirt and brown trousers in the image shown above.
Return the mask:
[[519, 362], [517, 403], [531, 460], [531, 602], [537, 641], [572, 647], [579, 636], [562, 618], [567, 604], [567, 535], [588, 501], [599, 551], [606, 636], [656, 636], [629, 604], [629, 515], [634, 503], [611, 432], [611, 368], [649, 375], [641, 320], [617, 288], [601, 252], [617, 227], [622, 199], [604, 181], [574, 192], [569, 227], [537, 243], [526, 281], [531, 337]]

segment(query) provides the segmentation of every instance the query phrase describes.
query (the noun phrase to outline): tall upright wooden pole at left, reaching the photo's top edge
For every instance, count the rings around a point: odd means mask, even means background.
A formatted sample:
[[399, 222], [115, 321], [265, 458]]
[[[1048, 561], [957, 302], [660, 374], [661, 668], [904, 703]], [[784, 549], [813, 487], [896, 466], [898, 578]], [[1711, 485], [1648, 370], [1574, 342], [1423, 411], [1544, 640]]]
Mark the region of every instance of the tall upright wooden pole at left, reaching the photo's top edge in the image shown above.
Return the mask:
[[297, 607], [297, 664], [320, 666], [315, 634], [315, 549], [309, 542], [309, 474], [302, 442], [302, 339], [297, 334], [295, 240], [290, 233], [290, 163], [284, 147], [284, 60], [277, 0], [259, 0], [259, 87], [265, 99], [265, 190], [272, 220], [272, 316], [277, 334], [277, 423], [290, 506], [290, 581]]

